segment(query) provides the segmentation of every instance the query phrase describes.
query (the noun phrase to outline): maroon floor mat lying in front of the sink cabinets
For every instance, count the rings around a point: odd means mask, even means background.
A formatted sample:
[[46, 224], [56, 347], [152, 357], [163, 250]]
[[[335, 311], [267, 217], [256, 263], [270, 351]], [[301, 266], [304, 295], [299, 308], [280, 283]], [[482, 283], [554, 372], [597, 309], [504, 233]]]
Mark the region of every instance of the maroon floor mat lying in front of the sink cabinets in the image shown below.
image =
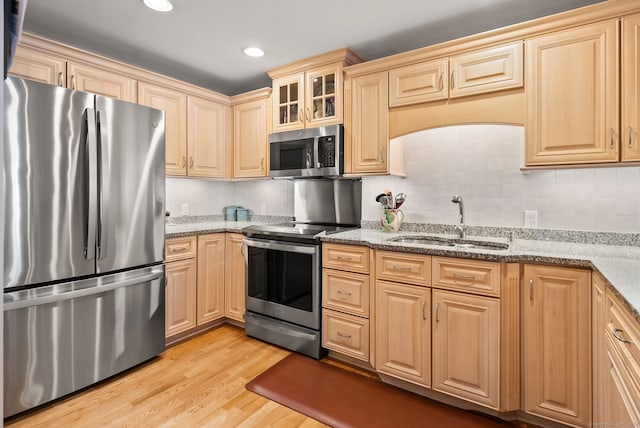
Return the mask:
[[298, 354], [246, 388], [332, 427], [512, 426]]

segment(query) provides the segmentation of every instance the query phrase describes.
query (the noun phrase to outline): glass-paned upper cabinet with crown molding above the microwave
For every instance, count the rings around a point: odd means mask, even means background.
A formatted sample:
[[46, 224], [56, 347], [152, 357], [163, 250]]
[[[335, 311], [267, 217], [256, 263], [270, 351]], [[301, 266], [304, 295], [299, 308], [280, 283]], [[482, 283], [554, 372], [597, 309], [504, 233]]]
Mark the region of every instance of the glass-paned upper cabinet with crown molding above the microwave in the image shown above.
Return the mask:
[[273, 131], [342, 123], [342, 68], [360, 61], [350, 50], [339, 49], [270, 70]]

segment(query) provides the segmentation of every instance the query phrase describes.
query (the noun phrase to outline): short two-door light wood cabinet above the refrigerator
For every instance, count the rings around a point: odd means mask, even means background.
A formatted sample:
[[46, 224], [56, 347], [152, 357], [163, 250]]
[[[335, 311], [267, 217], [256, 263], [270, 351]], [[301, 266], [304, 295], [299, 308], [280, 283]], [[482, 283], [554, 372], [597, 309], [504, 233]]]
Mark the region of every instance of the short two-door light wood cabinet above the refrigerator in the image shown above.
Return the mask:
[[9, 72], [13, 76], [62, 86], [117, 100], [138, 100], [137, 80], [97, 65], [70, 61], [26, 46], [18, 46]]

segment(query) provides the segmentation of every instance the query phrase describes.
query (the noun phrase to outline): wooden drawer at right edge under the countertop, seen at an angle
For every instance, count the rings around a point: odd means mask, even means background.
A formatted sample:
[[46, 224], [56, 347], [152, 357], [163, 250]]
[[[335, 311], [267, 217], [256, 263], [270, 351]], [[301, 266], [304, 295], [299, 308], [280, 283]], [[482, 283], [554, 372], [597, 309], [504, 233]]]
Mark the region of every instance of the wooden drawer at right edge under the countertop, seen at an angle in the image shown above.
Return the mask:
[[607, 335], [618, 353], [623, 357], [626, 370], [640, 387], [640, 328], [638, 323], [610, 294], [607, 295]]

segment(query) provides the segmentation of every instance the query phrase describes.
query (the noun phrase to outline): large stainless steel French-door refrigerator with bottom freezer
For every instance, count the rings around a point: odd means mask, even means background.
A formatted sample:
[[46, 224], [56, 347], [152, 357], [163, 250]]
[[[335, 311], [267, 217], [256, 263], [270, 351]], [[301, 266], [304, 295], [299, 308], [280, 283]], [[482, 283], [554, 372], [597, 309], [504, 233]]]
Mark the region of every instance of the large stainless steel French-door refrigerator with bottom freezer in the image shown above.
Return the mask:
[[164, 350], [164, 112], [4, 82], [4, 416]]

